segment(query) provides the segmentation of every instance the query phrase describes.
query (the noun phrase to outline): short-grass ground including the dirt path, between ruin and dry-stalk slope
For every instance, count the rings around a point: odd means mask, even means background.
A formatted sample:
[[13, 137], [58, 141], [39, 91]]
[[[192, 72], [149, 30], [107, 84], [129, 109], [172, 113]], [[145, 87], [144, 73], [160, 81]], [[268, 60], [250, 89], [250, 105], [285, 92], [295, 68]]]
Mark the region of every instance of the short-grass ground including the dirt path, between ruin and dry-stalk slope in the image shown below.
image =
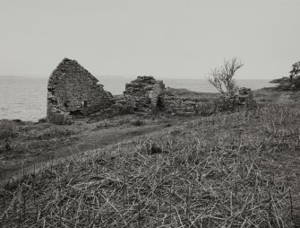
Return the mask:
[[[81, 119], [71, 126], [0, 120], [0, 181], [16, 173], [41, 167], [45, 162], [112, 145], [125, 139], [161, 130], [172, 123], [170, 118], [126, 115], [93, 121]], [[5, 149], [1, 135], [11, 129], [11, 149]], [[3, 134], [1, 134], [1, 132]]]

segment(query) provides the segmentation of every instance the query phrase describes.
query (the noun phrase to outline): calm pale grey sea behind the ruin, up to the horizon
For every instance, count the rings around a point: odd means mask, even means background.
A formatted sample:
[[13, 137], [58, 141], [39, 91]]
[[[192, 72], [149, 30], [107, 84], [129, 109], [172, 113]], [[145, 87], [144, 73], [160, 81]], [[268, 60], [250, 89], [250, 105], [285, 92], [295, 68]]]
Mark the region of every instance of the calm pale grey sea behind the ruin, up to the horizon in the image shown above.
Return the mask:
[[[125, 83], [135, 79], [122, 76], [99, 76], [105, 90], [121, 94]], [[166, 86], [185, 88], [195, 92], [216, 92], [206, 79], [162, 79]], [[269, 80], [239, 80], [240, 86], [253, 90], [272, 86]], [[0, 119], [19, 118], [37, 121], [46, 117], [47, 78], [25, 76], [0, 76]]]

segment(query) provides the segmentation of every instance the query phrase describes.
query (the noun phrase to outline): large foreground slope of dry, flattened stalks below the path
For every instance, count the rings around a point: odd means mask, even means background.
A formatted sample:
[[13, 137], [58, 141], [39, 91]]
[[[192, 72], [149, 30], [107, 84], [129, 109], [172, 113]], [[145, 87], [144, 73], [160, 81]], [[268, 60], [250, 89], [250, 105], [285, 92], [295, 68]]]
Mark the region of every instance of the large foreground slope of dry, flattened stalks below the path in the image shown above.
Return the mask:
[[299, 103], [187, 121], [1, 187], [3, 227], [299, 227]]

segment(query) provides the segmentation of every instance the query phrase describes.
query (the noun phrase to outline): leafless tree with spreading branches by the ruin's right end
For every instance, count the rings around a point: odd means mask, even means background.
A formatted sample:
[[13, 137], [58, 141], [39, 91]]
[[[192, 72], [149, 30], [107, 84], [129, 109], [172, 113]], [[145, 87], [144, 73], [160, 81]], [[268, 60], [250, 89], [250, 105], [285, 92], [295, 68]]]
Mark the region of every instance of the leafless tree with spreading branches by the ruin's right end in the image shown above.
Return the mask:
[[208, 78], [209, 83], [216, 87], [222, 94], [229, 97], [235, 96], [238, 86], [236, 85], [234, 75], [242, 66], [243, 64], [237, 62], [236, 57], [230, 60], [224, 59], [224, 66], [215, 68], [211, 71]]

